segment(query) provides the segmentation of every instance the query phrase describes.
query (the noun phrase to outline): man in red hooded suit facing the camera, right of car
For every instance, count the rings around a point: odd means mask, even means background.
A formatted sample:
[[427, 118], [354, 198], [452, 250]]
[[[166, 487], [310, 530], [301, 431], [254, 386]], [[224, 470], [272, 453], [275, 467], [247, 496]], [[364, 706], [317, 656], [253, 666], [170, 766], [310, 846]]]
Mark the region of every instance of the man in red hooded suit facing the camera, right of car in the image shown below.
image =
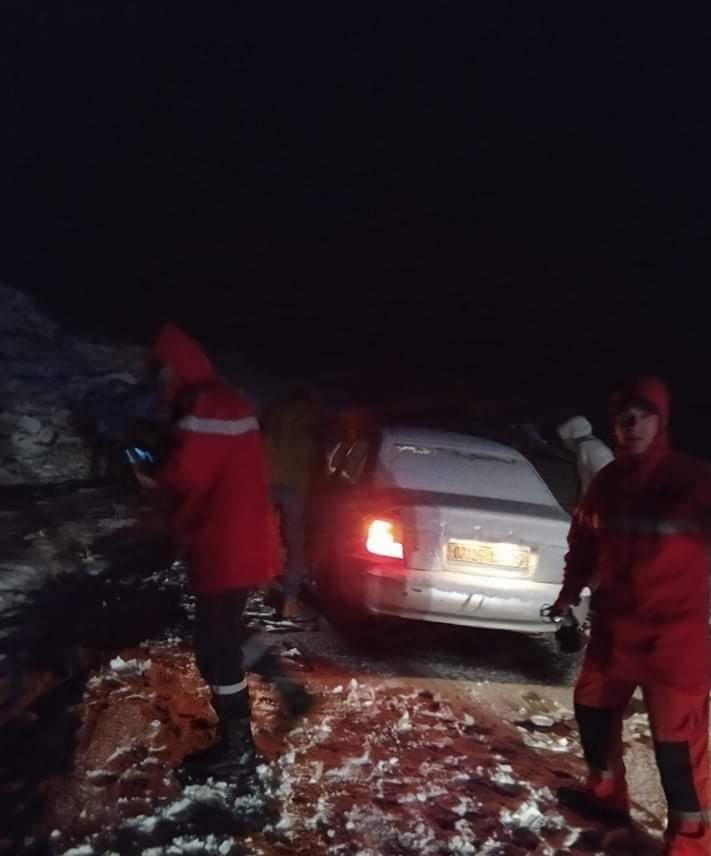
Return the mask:
[[[711, 853], [709, 545], [711, 476], [672, 451], [669, 395], [642, 378], [613, 396], [615, 460], [575, 512], [554, 612], [592, 589], [575, 688], [588, 765], [578, 805], [629, 817], [622, 718], [641, 687], [668, 803], [669, 856]], [[561, 789], [573, 803], [575, 789]]]

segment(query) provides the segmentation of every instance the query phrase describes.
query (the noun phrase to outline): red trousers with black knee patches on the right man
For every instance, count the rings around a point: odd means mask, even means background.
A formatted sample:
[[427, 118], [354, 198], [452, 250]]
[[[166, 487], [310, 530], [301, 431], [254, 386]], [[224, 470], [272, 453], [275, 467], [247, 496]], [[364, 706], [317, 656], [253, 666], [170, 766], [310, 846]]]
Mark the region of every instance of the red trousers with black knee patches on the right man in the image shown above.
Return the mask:
[[[680, 689], [653, 680], [640, 686], [667, 799], [667, 853], [711, 856], [709, 688]], [[588, 789], [618, 811], [629, 809], [622, 718], [636, 687], [587, 658], [575, 687]]]

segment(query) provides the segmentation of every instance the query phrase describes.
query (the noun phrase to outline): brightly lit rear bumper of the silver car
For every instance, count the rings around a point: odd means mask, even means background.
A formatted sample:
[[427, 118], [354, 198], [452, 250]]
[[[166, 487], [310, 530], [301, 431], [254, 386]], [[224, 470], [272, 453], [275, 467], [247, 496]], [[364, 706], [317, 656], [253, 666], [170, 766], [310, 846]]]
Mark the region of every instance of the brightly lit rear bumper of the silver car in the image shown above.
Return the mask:
[[[555, 601], [560, 583], [416, 570], [395, 574], [379, 568], [368, 568], [364, 583], [364, 606], [375, 615], [523, 633], [556, 629], [540, 612]], [[584, 620], [587, 599], [575, 613]]]

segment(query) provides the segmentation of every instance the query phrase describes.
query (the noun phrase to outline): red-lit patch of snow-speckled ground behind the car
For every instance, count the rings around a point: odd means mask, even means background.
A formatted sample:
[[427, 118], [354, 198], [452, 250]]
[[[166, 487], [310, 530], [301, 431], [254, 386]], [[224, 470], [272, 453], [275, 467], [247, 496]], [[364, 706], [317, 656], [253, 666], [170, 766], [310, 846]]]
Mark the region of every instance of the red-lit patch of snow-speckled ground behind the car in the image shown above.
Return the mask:
[[[219, 836], [213, 828], [192, 839], [202, 842], [198, 852], [441, 854], [514, 846], [553, 853], [570, 837], [540, 759], [491, 711], [474, 717], [470, 711], [479, 711], [462, 696], [433, 692], [428, 682], [350, 678], [344, 685], [309, 676], [320, 705], [285, 731], [271, 690], [255, 683], [255, 736], [267, 763], [253, 792], [238, 795], [219, 782], [181, 791], [172, 770], [190, 740], [187, 733], [176, 739], [180, 716], [171, 707], [176, 698], [199, 699], [204, 710], [193, 715], [206, 717], [206, 701], [185, 653], [167, 660], [150, 644], [143, 660], [131, 653], [112, 661], [83, 701], [92, 736], [53, 802], [53, 823], [83, 834], [72, 847], [123, 853], [131, 842], [130, 852], [190, 852], [175, 848], [201, 813], [213, 826], [217, 817], [229, 826], [232, 816], [248, 830]], [[142, 665], [123, 667], [133, 661]], [[178, 694], [166, 699], [169, 681]], [[526, 758], [522, 766], [500, 754], [509, 743]], [[79, 805], [91, 810], [77, 817], [71, 807]], [[157, 830], [170, 837], [164, 849], [156, 848]]]

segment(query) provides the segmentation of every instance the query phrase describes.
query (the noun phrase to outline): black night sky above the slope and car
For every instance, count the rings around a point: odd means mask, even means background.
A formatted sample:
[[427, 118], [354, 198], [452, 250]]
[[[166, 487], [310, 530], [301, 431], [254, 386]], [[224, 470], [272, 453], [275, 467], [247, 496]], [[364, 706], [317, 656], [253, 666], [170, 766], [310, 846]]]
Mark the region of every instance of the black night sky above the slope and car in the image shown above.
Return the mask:
[[0, 18], [0, 279], [77, 328], [143, 341], [170, 317], [270, 371], [393, 390], [602, 400], [654, 371], [701, 433], [706, 3]]

